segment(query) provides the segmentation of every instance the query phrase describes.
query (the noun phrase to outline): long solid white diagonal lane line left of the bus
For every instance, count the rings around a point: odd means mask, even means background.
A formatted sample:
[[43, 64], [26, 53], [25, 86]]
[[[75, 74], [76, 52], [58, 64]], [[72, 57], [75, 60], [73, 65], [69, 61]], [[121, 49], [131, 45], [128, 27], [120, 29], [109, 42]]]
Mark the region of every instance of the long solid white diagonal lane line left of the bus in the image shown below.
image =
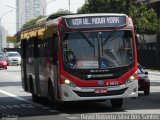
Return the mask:
[[[22, 98], [22, 97], [19, 97], [19, 96], [17, 96], [17, 95], [12, 94], [12, 93], [6, 92], [6, 91], [4, 91], [4, 90], [1, 90], [1, 89], [0, 89], [0, 92], [1, 92], [2, 94], [5, 94], [5, 95], [10, 96], [10, 97], [12, 97], [12, 98], [15, 98], [16, 100], [20, 100], [20, 101], [29, 103], [29, 104], [31, 104], [31, 105], [34, 105], [35, 107], [39, 107], [39, 108], [42, 108], [42, 109], [44, 109], [44, 108], [50, 109], [50, 110], [48, 110], [48, 111], [51, 111], [51, 110], [52, 110], [52, 109], [49, 108], [49, 107], [46, 107], [46, 106], [41, 105], [41, 104], [38, 104], [38, 103], [34, 103], [34, 102], [32, 102], [32, 101], [29, 101], [29, 100], [27, 100], [27, 99], [24, 99], [24, 98]], [[52, 110], [52, 112], [53, 112], [53, 111], [54, 111], [54, 112], [59, 112], [59, 111], [57, 111], [57, 110]]]

